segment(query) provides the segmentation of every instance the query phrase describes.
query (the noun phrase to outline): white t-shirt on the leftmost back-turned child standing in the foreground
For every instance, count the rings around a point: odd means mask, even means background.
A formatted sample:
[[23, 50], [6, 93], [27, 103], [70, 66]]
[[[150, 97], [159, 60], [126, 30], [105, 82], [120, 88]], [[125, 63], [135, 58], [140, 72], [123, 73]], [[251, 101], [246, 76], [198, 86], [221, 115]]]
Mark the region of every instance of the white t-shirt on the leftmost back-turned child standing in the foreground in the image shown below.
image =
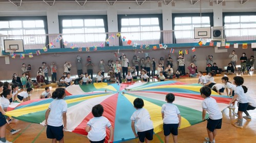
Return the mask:
[[50, 103], [48, 109], [51, 111], [47, 120], [47, 124], [54, 127], [62, 126], [62, 114], [68, 110], [67, 102], [63, 99], [54, 99]]

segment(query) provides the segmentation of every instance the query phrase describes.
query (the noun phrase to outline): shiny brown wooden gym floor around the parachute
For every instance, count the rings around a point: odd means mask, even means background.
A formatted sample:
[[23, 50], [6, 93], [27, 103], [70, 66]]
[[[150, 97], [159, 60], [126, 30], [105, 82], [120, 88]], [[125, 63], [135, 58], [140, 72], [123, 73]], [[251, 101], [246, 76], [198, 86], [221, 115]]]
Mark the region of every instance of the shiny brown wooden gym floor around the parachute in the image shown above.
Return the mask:
[[[244, 77], [246, 87], [248, 87], [248, 94], [250, 94], [254, 100], [256, 100], [256, 88], [254, 81], [256, 80], [256, 74], [251, 73], [251, 75], [248, 74], [238, 74]], [[221, 76], [215, 76], [215, 81], [217, 83], [221, 83]], [[232, 77], [234, 75], [228, 75], [229, 80], [232, 82]], [[186, 83], [197, 83], [198, 78], [180, 78], [180, 79], [173, 79], [181, 82]], [[50, 84], [51, 85], [51, 84]], [[56, 85], [52, 85], [50, 87], [51, 93], [56, 89]], [[39, 95], [44, 91], [44, 88], [40, 89], [34, 89], [32, 94], [32, 99], [39, 98]], [[225, 94], [225, 92], [224, 92]], [[236, 112], [237, 112], [236, 108]], [[251, 120], [245, 120], [244, 119], [244, 128], [236, 128], [232, 125], [232, 123], [236, 122], [236, 117], [232, 114], [232, 109], [226, 108], [223, 111], [223, 122], [222, 122], [222, 129], [218, 130], [216, 141], [218, 143], [221, 142], [254, 142], [256, 139], [256, 110], [250, 110], [248, 111], [250, 116], [252, 117]], [[7, 131], [6, 138], [9, 141], [15, 142], [15, 143], [31, 143], [31, 142], [37, 142], [37, 143], [47, 143], [51, 142], [51, 139], [48, 139], [46, 137], [46, 127], [43, 127], [38, 124], [32, 124], [27, 123], [23, 121], [14, 120], [10, 126], [14, 129], [22, 129], [20, 132], [11, 135], [9, 131]], [[207, 137], [207, 131], [206, 131], [206, 122], [190, 126], [188, 128], [180, 129], [179, 135], [178, 135], [178, 142], [203, 142], [204, 137]], [[64, 136], [65, 142], [70, 143], [80, 143], [80, 142], [90, 142], [86, 136], [71, 133], [71, 132], [65, 132]], [[172, 137], [170, 137], [170, 142], [173, 142]], [[138, 142], [138, 139], [125, 141], [126, 143], [132, 143], [132, 142]], [[154, 143], [160, 143], [164, 142], [164, 135], [163, 132], [160, 132], [156, 135], [154, 135], [153, 141]]]

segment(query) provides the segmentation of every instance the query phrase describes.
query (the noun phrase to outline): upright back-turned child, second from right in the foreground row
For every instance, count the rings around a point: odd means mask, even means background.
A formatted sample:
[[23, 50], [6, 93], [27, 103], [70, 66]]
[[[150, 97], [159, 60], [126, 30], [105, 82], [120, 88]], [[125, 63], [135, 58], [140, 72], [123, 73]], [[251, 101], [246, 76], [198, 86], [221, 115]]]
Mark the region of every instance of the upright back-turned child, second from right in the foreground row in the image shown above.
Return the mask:
[[165, 101], [167, 101], [167, 103], [163, 104], [161, 109], [165, 143], [169, 142], [169, 135], [171, 133], [174, 139], [174, 143], [178, 142], [178, 128], [180, 128], [181, 125], [181, 116], [180, 110], [176, 105], [173, 104], [174, 100], [174, 94], [168, 93], [165, 96]]

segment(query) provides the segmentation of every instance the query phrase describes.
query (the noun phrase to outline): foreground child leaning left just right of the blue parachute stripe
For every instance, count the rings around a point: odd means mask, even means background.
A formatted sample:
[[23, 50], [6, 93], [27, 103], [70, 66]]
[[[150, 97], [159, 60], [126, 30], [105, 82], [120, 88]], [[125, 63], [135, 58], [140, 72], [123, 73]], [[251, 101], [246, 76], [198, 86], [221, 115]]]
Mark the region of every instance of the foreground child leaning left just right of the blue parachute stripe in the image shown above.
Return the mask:
[[[136, 111], [133, 113], [132, 120], [132, 130], [135, 137], [139, 138], [138, 143], [146, 141], [146, 143], [153, 140], [154, 127], [153, 122], [151, 121], [150, 113], [143, 108], [144, 102], [141, 98], [136, 98], [133, 101], [134, 108]], [[138, 131], [136, 133], [135, 131]]]

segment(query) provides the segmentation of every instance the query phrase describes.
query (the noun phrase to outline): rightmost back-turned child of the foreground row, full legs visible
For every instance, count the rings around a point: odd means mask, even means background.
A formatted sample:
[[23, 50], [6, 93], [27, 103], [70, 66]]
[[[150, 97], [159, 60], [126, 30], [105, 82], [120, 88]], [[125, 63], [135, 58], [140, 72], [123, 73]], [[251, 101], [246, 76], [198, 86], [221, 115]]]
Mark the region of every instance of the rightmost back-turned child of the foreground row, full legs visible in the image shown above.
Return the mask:
[[216, 129], [221, 129], [222, 125], [222, 112], [214, 98], [211, 98], [211, 89], [209, 87], [202, 87], [200, 89], [201, 97], [204, 98], [202, 102], [202, 120], [205, 121], [206, 111], [209, 113], [207, 120], [207, 133], [208, 137], [204, 139], [204, 143], [214, 143], [217, 135]]

